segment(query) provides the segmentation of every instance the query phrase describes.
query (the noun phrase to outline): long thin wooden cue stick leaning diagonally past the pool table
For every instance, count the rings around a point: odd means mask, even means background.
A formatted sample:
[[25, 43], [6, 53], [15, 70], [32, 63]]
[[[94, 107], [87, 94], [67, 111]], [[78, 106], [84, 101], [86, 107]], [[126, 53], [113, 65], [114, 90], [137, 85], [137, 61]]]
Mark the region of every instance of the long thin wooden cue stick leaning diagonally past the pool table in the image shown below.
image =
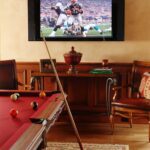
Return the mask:
[[74, 119], [73, 119], [73, 116], [72, 116], [72, 113], [71, 113], [69, 104], [68, 104], [68, 102], [67, 102], [66, 95], [65, 95], [65, 93], [64, 93], [62, 84], [61, 84], [60, 79], [59, 79], [59, 77], [58, 77], [58, 73], [57, 73], [57, 70], [56, 70], [56, 68], [55, 68], [54, 62], [53, 62], [53, 60], [52, 60], [52, 58], [51, 58], [51, 54], [50, 54], [50, 51], [49, 51], [49, 49], [48, 49], [48, 46], [47, 46], [45, 37], [43, 37], [43, 41], [44, 41], [44, 45], [45, 45], [45, 47], [46, 47], [46, 51], [47, 51], [47, 53], [48, 53], [50, 62], [51, 62], [51, 64], [52, 64], [52, 68], [53, 68], [54, 74], [55, 74], [55, 76], [56, 76], [56, 80], [57, 80], [59, 89], [60, 89], [60, 91], [61, 91], [61, 93], [62, 93], [62, 95], [63, 95], [64, 101], [65, 101], [65, 105], [66, 105], [66, 108], [67, 108], [67, 111], [68, 111], [68, 114], [69, 114], [69, 118], [70, 118], [70, 121], [71, 121], [71, 123], [72, 123], [74, 132], [75, 132], [75, 134], [76, 134], [77, 141], [78, 141], [78, 143], [79, 143], [80, 149], [83, 150], [83, 146], [82, 146], [82, 143], [81, 143], [81, 139], [80, 139], [80, 135], [79, 135], [78, 129], [77, 129], [76, 124], [75, 124], [75, 121], [74, 121]]

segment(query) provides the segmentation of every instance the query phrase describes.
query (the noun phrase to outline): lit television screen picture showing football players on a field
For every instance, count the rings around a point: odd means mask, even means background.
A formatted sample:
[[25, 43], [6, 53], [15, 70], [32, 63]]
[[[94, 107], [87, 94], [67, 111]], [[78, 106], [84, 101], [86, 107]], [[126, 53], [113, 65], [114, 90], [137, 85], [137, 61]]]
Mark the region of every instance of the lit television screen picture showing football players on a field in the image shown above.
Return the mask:
[[40, 35], [111, 37], [112, 0], [40, 0]]

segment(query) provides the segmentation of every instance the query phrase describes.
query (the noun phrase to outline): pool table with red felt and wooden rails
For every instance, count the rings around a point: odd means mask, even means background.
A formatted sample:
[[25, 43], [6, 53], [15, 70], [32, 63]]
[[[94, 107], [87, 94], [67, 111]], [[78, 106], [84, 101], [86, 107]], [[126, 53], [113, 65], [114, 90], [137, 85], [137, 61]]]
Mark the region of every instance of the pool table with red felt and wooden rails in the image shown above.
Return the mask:
[[[19, 93], [13, 101], [10, 95]], [[39, 97], [40, 91], [0, 90], [0, 149], [37, 149], [44, 141], [45, 134], [54, 124], [64, 107], [60, 92], [45, 92], [46, 97]], [[31, 102], [38, 103], [38, 109], [31, 107]], [[10, 110], [18, 110], [13, 118]]]

